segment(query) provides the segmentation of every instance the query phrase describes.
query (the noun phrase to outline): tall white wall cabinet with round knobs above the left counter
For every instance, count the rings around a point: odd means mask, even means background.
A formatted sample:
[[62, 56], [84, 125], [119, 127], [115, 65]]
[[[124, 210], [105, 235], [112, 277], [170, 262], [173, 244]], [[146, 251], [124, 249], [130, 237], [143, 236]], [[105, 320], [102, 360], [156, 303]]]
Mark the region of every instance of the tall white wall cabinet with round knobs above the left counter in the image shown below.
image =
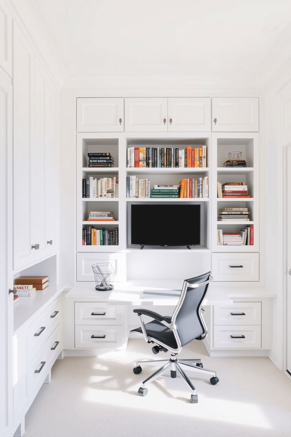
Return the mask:
[[56, 253], [57, 92], [14, 23], [14, 270]]

